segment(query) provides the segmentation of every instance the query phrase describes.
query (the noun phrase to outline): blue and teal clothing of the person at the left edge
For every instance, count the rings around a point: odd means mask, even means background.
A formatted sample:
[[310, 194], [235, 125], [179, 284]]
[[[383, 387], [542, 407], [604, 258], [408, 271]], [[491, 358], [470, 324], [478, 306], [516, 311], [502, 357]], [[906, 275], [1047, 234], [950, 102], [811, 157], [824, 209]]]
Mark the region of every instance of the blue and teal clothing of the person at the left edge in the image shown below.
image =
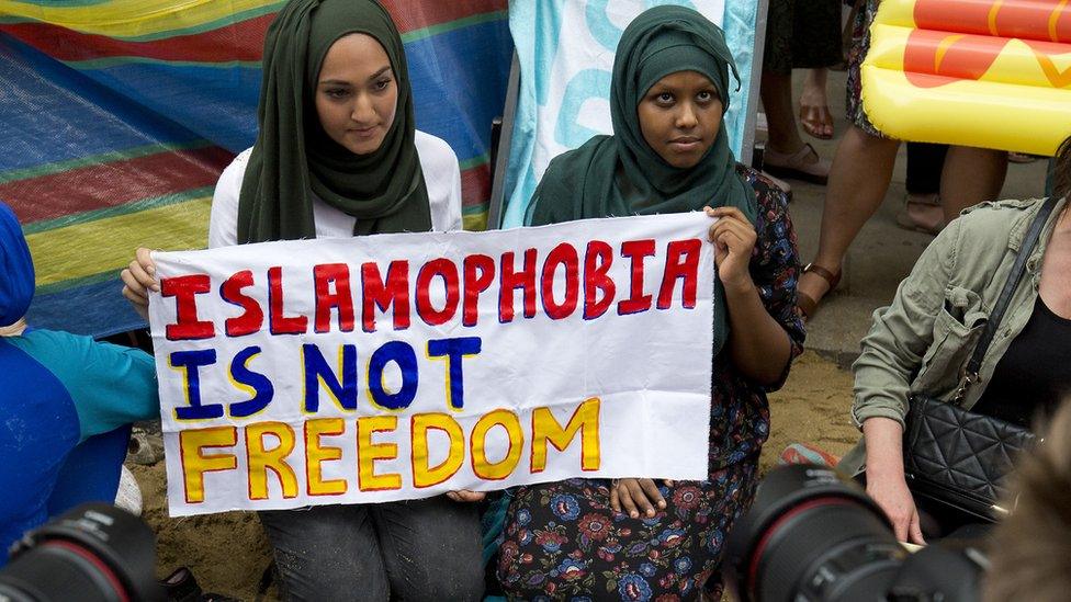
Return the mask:
[[49, 330], [0, 338], [0, 566], [3, 550], [48, 518], [76, 445], [159, 413], [143, 351]]

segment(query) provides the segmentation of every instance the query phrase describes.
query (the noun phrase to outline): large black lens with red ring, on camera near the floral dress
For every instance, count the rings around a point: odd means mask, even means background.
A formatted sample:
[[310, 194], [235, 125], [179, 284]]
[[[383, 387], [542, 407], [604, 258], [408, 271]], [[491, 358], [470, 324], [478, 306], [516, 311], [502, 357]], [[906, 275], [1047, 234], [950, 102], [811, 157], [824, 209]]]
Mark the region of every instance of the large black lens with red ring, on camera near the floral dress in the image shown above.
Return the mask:
[[884, 513], [830, 468], [778, 468], [730, 534], [725, 580], [740, 600], [884, 600], [906, 552]]

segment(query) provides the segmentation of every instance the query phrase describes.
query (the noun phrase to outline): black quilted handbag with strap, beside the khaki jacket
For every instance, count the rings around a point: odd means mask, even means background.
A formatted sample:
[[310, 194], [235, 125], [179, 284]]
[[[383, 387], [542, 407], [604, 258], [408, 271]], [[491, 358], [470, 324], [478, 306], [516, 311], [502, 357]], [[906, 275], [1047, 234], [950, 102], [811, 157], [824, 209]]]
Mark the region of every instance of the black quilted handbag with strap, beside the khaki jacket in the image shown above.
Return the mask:
[[1006, 512], [999, 506], [1007, 493], [1007, 475], [1015, 456], [1035, 444], [1029, 429], [959, 407], [967, 389], [978, 382], [985, 350], [993, 340], [1012, 295], [1037, 246], [1056, 200], [1049, 198], [1026, 234], [993, 308], [967, 363], [963, 384], [951, 401], [926, 395], [910, 397], [904, 429], [904, 474], [913, 496], [928, 498], [983, 521]]

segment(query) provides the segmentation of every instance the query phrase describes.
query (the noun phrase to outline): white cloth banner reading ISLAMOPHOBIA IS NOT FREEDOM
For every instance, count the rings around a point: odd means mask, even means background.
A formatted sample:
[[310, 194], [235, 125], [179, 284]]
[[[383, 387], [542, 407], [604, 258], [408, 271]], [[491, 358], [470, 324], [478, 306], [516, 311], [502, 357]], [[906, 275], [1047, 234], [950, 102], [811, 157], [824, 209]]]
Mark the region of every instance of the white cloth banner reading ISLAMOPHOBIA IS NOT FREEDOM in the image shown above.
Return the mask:
[[706, 478], [710, 224], [154, 253], [171, 515]]

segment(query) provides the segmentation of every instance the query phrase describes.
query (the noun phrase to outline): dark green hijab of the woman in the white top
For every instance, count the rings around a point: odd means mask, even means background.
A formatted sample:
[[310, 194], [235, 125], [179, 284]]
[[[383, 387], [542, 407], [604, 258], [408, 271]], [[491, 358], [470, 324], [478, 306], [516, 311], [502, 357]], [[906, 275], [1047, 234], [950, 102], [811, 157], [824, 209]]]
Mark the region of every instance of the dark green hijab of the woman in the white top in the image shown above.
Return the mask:
[[[314, 104], [328, 48], [351, 33], [379, 41], [398, 87], [383, 145], [362, 156], [328, 137]], [[238, 242], [314, 238], [314, 194], [356, 217], [354, 235], [431, 229], [402, 37], [374, 0], [288, 2], [264, 39], [257, 117], [257, 143], [238, 197]]]

